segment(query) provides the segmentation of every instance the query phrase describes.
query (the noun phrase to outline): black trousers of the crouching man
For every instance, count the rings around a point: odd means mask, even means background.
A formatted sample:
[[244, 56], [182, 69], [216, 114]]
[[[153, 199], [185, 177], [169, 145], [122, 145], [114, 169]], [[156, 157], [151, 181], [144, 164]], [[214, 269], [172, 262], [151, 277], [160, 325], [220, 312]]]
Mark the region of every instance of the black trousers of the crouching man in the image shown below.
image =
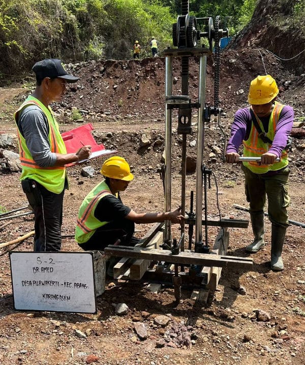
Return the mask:
[[135, 246], [139, 239], [133, 237], [134, 232], [134, 222], [128, 219], [121, 219], [98, 228], [89, 240], [79, 244], [79, 247], [85, 251], [103, 251], [106, 246], [114, 245], [118, 239], [121, 246]]

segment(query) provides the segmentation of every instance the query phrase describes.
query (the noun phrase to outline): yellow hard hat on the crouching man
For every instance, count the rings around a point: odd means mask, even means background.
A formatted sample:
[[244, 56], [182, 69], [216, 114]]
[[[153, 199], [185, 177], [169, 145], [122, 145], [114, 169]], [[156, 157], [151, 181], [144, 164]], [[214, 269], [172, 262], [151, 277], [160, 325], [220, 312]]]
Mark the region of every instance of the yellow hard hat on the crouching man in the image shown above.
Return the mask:
[[124, 181], [131, 181], [134, 178], [127, 161], [119, 156], [112, 156], [107, 159], [102, 166], [101, 174]]

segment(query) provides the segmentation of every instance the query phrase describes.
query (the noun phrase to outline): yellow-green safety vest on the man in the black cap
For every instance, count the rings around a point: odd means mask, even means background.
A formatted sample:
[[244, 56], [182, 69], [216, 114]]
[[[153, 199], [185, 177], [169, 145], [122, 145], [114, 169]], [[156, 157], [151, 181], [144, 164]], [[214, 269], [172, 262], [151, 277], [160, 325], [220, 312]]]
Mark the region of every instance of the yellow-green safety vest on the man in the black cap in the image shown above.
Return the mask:
[[18, 128], [18, 118], [21, 110], [29, 105], [39, 107], [48, 121], [49, 134], [48, 140], [52, 153], [66, 154], [66, 146], [60, 135], [58, 125], [53, 117], [51, 108], [46, 108], [38, 99], [28, 97], [20, 108], [14, 113], [14, 119], [17, 125], [19, 157], [22, 165], [22, 173], [20, 179], [31, 178], [44, 186], [47, 190], [55, 194], [60, 194], [64, 190], [66, 179], [66, 168], [64, 166], [41, 167], [34, 161], [26, 142]]

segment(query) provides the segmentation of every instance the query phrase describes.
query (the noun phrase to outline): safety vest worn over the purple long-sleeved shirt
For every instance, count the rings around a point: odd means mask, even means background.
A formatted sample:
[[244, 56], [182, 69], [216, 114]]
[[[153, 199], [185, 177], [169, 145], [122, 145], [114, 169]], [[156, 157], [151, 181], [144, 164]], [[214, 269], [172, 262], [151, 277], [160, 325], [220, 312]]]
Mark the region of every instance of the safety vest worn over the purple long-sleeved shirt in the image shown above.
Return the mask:
[[[270, 118], [269, 118], [269, 124], [268, 124], [268, 132], [266, 136], [273, 141], [275, 138], [275, 131], [276, 127], [280, 118], [281, 111], [283, 109], [284, 105], [275, 102], [275, 106], [272, 109]], [[262, 131], [264, 131], [262, 122], [259, 118], [257, 118], [257, 122], [259, 123], [259, 126]], [[244, 141], [243, 143], [243, 156], [244, 157], [261, 157], [264, 153], [266, 153], [269, 148], [271, 147], [271, 144], [264, 143], [261, 138], [258, 136], [258, 131], [256, 130], [254, 124], [252, 123], [251, 131], [249, 138]], [[275, 162], [273, 165], [260, 165], [256, 161], [243, 161], [243, 165], [245, 165], [249, 170], [251, 170], [254, 173], [262, 174], [268, 171], [276, 171], [280, 170], [283, 167], [288, 165], [288, 159], [287, 159], [287, 151], [284, 149], [282, 151], [281, 160], [279, 162]]]

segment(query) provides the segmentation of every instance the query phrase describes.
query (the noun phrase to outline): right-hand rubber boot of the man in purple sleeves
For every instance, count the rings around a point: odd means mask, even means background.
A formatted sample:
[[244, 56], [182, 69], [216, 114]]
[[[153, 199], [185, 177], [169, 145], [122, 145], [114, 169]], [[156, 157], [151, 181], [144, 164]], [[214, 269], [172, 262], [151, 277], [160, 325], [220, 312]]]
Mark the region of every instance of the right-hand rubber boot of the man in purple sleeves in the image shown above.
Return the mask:
[[275, 226], [271, 228], [271, 270], [284, 269], [282, 259], [283, 245], [285, 241], [286, 227]]

